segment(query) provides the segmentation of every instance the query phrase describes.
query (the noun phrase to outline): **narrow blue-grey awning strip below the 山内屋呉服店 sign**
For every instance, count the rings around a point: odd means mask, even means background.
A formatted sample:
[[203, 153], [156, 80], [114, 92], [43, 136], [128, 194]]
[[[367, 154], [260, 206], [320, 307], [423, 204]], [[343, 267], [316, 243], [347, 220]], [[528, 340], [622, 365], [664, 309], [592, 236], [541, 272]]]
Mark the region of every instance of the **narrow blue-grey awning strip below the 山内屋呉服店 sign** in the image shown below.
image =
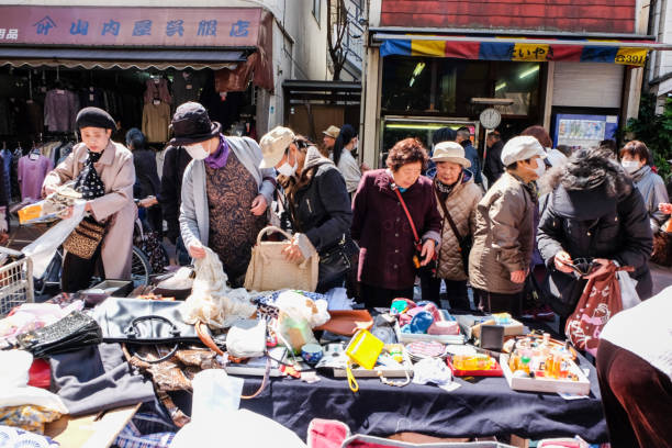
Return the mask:
[[0, 47], [0, 65], [14, 67], [56, 67], [68, 68], [168, 68], [213, 69], [234, 68], [247, 59], [246, 49], [131, 49], [131, 48], [23, 48]]

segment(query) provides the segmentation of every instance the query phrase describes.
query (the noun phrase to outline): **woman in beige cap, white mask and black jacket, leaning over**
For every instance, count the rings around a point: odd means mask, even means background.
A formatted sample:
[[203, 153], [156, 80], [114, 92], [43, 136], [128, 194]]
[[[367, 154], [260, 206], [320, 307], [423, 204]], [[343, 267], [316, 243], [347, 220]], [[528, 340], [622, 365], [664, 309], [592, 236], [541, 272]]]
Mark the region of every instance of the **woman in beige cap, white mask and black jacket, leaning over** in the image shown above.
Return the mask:
[[[350, 243], [350, 197], [334, 163], [287, 127], [270, 131], [261, 137], [260, 146], [261, 167], [276, 167], [281, 176], [281, 202], [294, 234], [283, 250], [287, 259], [301, 261], [315, 253], [322, 257], [341, 240]], [[352, 248], [352, 245], [346, 244], [346, 247]], [[331, 273], [333, 277], [334, 272]], [[325, 276], [321, 267], [317, 292], [343, 285], [346, 272], [333, 278]]]

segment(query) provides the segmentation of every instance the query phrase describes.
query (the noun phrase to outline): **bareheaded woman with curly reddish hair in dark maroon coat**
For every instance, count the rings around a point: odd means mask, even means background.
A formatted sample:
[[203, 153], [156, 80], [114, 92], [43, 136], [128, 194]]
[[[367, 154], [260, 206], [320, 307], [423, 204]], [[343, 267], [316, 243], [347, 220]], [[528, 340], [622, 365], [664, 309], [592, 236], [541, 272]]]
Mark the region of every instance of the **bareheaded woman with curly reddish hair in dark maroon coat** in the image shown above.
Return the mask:
[[[397, 142], [388, 155], [388, 169], [367, 171], [355, 194], [351, 232], [361, 248], [358, 280], [369, 307], [413, 299], [417, 265], [427, 266], [434, 258], [441, 216], [432, 180], [421, 176], [426, 163], [418, 139]], [[421, 239], [419, 254], [414, 233]]]

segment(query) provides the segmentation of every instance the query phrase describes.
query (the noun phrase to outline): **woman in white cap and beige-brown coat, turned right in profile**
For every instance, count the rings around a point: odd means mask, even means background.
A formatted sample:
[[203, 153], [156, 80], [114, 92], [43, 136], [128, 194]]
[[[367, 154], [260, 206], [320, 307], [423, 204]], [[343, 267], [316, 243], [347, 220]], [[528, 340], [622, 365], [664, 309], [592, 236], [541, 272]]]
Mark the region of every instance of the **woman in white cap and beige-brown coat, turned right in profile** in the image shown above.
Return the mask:
[[502, 149], [506, 171], [477, 208], [469, 255], [469, 280], [481, 310], [520, 314], [525, 278], [534, 249], [535, 180], [546, 171], [537, 138], [518, 136]]

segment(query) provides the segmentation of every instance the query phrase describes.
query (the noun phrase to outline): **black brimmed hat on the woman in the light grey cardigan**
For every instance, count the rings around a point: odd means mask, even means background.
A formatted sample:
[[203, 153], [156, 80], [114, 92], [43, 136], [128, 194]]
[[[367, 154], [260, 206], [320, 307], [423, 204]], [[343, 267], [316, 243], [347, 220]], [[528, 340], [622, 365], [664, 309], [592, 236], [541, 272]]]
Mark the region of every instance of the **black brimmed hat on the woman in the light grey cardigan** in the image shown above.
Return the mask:
[[170, 144], [172, 146], [184, 146], [205, 142], [220, 135], [222, 125], [210, 121], [208, 111], [202, 104], [190, 101], [177, 108], [170, 122], [170, 128], [173, 135]]

